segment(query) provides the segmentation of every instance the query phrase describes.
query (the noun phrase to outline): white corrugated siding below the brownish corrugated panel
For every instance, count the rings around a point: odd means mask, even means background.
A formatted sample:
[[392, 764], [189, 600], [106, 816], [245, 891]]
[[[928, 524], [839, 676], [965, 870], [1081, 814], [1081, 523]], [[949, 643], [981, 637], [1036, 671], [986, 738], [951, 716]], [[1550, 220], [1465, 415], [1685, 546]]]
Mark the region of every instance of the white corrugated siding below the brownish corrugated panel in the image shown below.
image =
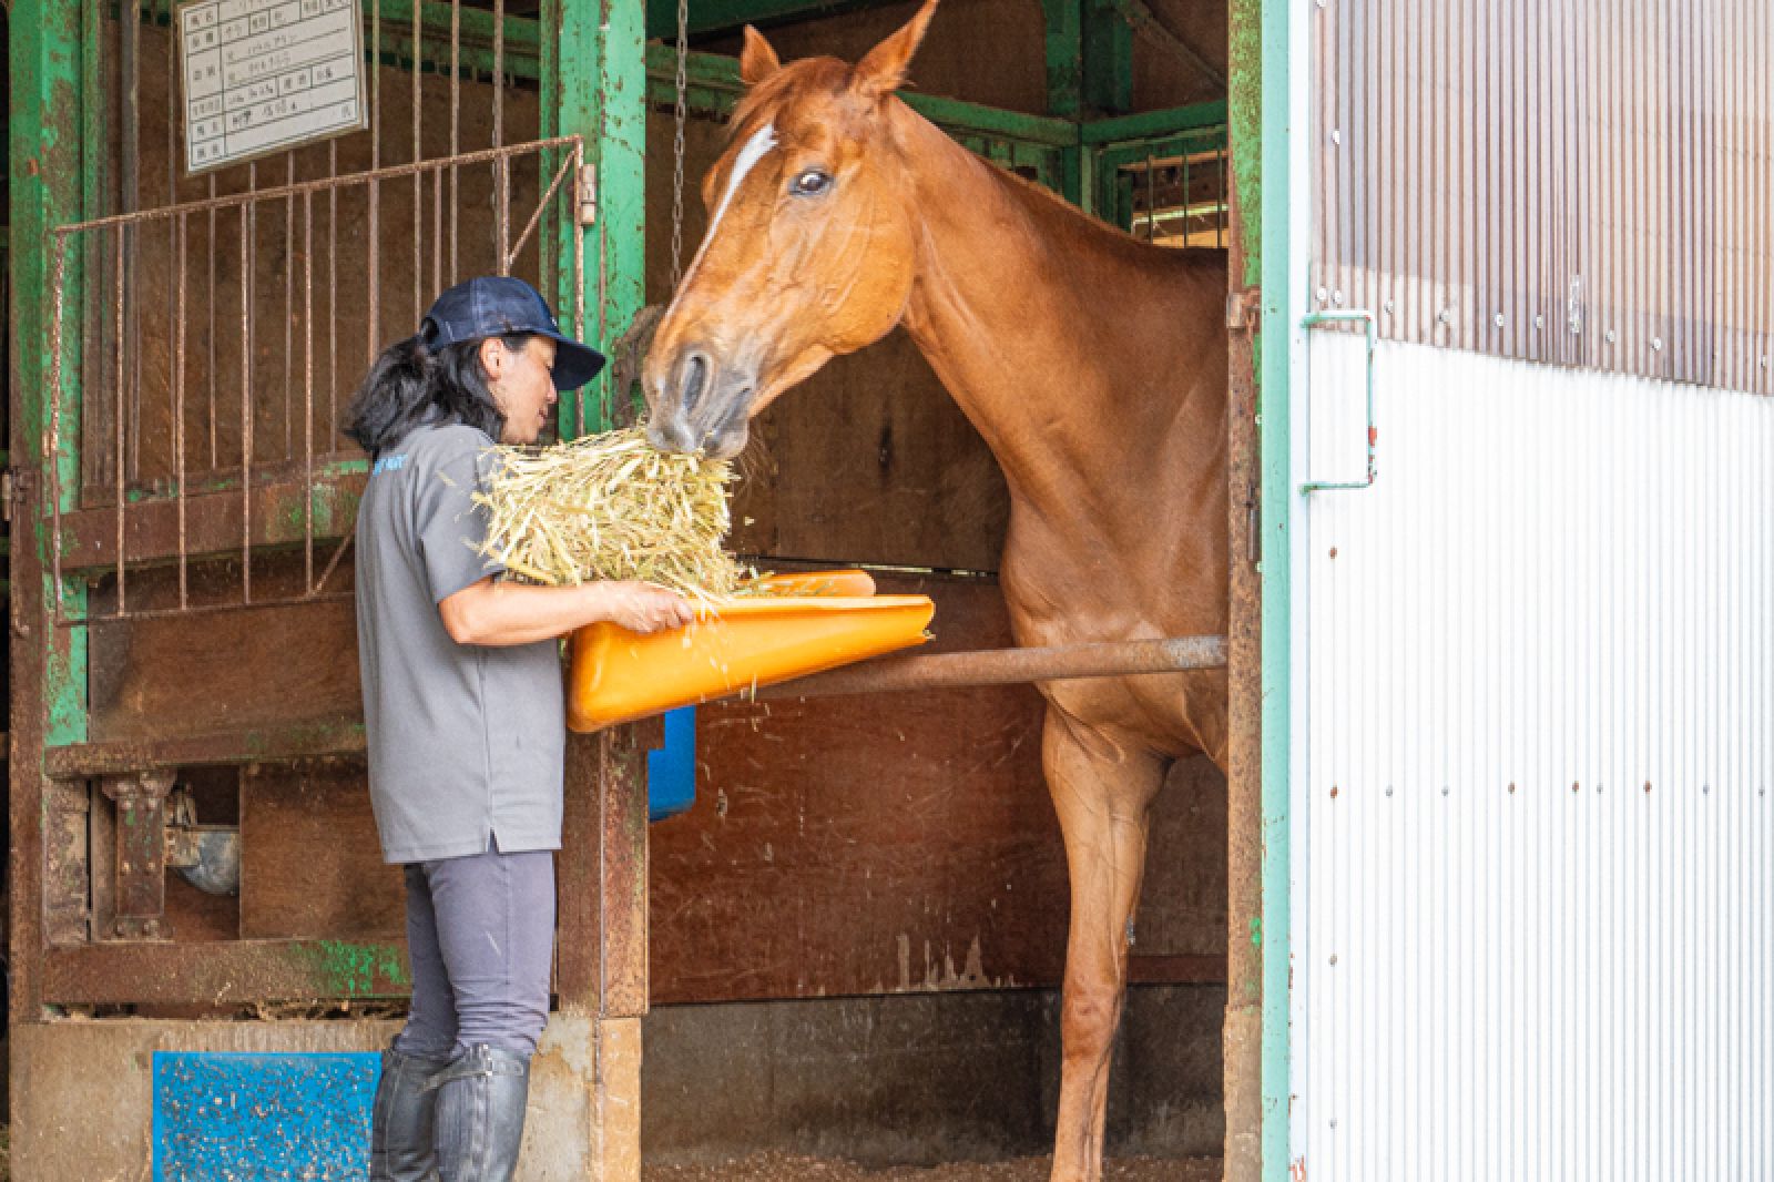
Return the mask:
[[[1307, 509], [1307, 1177], [1774, 1178], [1774, 399], [1377, 371]], [[1313, 479], [1361, 373], [1313, 334]]]

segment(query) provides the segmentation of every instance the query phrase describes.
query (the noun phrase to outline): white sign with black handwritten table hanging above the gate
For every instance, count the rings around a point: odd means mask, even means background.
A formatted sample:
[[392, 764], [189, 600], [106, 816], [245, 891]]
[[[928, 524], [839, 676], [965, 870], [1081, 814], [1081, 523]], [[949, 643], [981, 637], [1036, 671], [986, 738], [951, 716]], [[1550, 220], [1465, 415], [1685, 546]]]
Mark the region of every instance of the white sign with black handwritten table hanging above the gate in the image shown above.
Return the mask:
[[197, 0], [179, 48], [186, 172], [369, 126], [358, 0]]

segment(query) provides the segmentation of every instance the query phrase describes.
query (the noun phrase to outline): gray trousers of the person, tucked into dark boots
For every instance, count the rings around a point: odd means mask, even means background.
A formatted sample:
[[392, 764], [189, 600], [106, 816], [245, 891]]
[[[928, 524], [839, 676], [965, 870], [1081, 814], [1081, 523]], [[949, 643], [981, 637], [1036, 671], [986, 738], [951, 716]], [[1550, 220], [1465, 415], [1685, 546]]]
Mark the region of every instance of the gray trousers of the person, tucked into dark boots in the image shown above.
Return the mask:
[[413, 1003], [396, 1051], [454, 1060], [486, 1044], [536, 1054], [553, 964], [553, 852], [495, 845], [404, 870]]

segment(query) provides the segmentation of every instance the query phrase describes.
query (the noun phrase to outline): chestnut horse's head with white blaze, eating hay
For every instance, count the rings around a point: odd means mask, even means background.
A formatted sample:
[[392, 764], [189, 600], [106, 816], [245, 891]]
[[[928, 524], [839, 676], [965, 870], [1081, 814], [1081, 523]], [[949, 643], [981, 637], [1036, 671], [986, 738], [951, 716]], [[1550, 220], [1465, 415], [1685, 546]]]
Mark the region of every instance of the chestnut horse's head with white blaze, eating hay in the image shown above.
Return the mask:
[[899, 323], [917, 222], [887, 106], [935, 11], [855, 66], [784, 66], [747, 27], [747, 96], [703, 179], [708, 232], [642, 374], [655, 447], [738, 454], [752, 415]]

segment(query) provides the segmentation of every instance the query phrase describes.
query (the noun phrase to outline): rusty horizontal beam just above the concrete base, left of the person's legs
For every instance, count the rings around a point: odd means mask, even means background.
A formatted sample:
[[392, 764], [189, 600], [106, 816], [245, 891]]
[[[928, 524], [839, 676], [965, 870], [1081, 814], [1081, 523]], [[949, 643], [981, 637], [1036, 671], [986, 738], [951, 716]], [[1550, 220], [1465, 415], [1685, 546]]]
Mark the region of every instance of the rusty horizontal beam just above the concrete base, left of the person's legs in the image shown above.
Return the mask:
[[406, 948], [380, 941], [83, 944], [43, 955], [43, 999], [64, 1005], [404, 997]]

